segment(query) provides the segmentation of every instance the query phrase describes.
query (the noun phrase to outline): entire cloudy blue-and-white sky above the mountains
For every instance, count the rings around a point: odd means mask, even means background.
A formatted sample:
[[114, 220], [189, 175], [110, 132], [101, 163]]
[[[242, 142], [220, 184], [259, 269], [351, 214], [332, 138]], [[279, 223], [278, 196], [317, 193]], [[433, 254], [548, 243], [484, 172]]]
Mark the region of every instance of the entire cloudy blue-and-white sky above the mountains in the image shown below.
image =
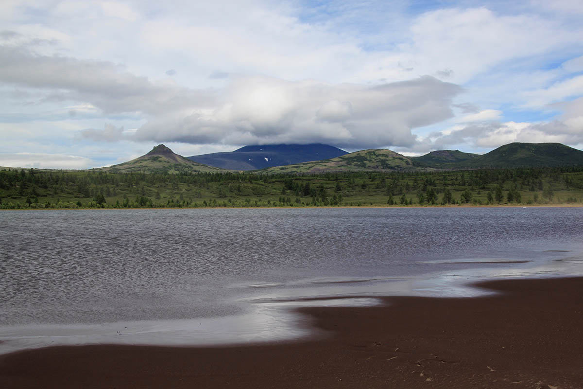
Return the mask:
[[583, 0], [0, 2], [0, 166], [583, 149]]

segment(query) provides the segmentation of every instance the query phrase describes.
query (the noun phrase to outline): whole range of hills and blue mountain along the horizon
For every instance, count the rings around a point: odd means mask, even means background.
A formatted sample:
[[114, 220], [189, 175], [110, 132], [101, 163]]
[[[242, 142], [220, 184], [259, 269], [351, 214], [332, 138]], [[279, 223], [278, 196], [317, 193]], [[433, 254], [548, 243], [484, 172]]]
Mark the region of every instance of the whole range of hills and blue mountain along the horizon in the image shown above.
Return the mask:
[[[336, 155], [329, 157], [329, 155]], [[307, 158], [321, 159], [289, 163]], [[192, 158], [196, 158], [195, 162]], [[215, 166], [201, 161], [214, 163]], [[219, 166], [216, 166], [219, 165]], [[230, 166], [224, 169], [220, 166]], [[256, 167], [262, 167], [261, 170]], [[415, 171], [464, 170], [504, 167], [583, 166], [583, 151], [561, 143], [509, 143], [484, 155], [459, 150], [436, 150], [423, 156], [404, 156], [387, 149], [360, 150], [347, 153], [329, 145], [260, 145], [245, 146], [234, 152], [182, 157], [164, 145], [129, 162], [100, 170], [147, 173], [220, 173], [251, 170], [259, 173], [328, 173], [335, 171]]]

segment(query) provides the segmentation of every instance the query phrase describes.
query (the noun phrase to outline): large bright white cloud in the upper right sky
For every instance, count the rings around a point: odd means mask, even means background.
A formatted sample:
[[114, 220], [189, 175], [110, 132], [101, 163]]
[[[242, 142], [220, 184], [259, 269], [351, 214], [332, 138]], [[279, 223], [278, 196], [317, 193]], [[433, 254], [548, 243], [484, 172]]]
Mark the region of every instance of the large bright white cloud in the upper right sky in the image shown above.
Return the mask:
[[500, 15], [486, 6], [448, 8], [417, 17], [410, 26], [410, 42], [401, 49], [403, 57], [417, 64], [416, 71], [447, 69], [452, 82], [463, 83], [500, 65], [512, 72], [511, 61], [532, 61], [545, 52], [578, 44], [582, 32], [580, 26], [561, 26], [536, 13]]

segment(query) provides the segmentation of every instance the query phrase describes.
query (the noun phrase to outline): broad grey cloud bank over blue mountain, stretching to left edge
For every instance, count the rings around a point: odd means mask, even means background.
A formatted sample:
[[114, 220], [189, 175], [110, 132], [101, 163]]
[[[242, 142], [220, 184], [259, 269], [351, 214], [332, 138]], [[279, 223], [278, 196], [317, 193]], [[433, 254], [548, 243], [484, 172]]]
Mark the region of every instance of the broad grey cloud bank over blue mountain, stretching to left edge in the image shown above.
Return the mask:
[[0, 54], [5, 54], [0, 80], [44, 90], [43, 101], [83, 101], [104, 114], [138, 112], [148, 118], [134, 136], [109, 125], [77, 136], [105, 142], [410, 146], [411, 130], [452, 117], [452, 99], [462, 92], [431, 76], [377, 86], [237, 76], [224, 89], [196, 90], [135, 76], [112, 62], [6, 47]]

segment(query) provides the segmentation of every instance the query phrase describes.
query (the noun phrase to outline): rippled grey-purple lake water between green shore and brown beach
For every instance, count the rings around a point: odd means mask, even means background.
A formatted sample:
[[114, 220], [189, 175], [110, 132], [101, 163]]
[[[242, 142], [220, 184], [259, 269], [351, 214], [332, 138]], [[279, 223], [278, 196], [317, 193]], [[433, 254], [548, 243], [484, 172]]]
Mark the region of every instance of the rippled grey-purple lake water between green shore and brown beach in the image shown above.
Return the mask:
[[583, 208], [0, 212], [0, 353], [301, 337], [288, 307], [582, 275], [582, 232]]

